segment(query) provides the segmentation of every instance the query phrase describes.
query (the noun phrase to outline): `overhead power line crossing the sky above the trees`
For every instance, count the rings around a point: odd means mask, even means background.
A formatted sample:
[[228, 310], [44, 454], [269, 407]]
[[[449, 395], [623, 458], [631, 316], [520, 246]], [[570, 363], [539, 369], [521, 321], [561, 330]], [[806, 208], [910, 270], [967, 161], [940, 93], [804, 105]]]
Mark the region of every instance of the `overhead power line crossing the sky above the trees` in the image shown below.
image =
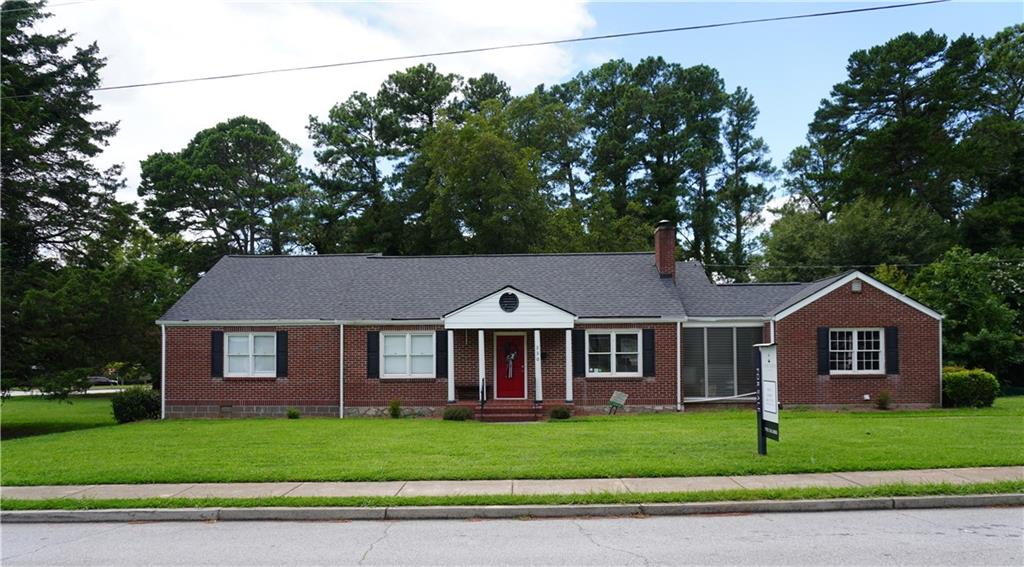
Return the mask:
[[[228, 73], [224, 75], [210, 75], [207, 77], [193, 77], [187, 79], [171, 79], [167, 81], [152, 81], [146, 83], [129, 83], [125, 85], [113, 85], [109, 87], [96, 87], [94, 89], [88, 89], [87, 92], [98, 92], [98, 91], [112, 91], [112, 90], [124, 90], [124, 89], [136, 89], [142, 87], [156, 87], [161, 85], [176, 85], [181, 83], [198, 83], [203, 81], [220, 81], [224, 79], [238, 79], [241, 77], [255, 77], [259, 75], [274, 75], [280, 73], [294, 73], [299, 71], [314, 71], [319, 69], [334, 69], [340, 67], [354, 67], [360, 64], [379, 63], [379, 62], [389, 62], [389, 61], [402, 61], [412, 59], [424, 59], [428, 57], [444, 57], [450, 55], [464, 55], [468, 53], [483, 53], [487, 51], [502, 51], [507, 49], [520, 49], [524, 47], [543, 47], [547, 45], [562, 45], [562, 44], [572, 44], [572, 43], [584, 43], [591, 41], [602, 41], [608, 39], [621, 39], [630, 38], [637, 36], [652, 36], [657, 34], [673, 34], [679, 32], [692, 32], [695, 30], [710, 30], [714, 28], [728, 28], [733, 26], [745, 26], [750, 24], [765, 24], [769, 21], [785, 21], [791, 19], [807, 19], [813, 17], [826, 17], [833, 15], [844, 15], [853, 13], [863, 13], [863, 12], [873, 12], [881, 10], [892, 10], [896, 8], [907, 8], [914, 6], [927, 6], [929, 4], [942, 4], [949, 2], [950, 0], [926, 0], [924, 2], [908, 2], [903, 4], [886, 4], [883, 6], [868, 6], [864, 8], [850, 8], [845, 10], [830, 10], [824, 12], [811, 12], [811, 13], [801, 13], [793, 15], [778, 15], [772, 17], [756, 17], [750, 19], [735, 19], [731, 21], [719, 21], [715, 24], [699, 24], [694, 26], [681, 26], [676, 28], [662, 28], [657, 30], [642, 30], [636, 32], [623, 32], [618, 34], [603, 34], [599, 36], [587, 36], [582, 38], [570, 38], [570, 39], [557, 39], [548, 41], [534, 41], [526, 43], [509, 43], [504, 45], [492, 45], [487, 47], [473, 47], [468, 49], [453, 49], [449, 51], [433, 51], [430, 53], [417, 53], [412, 55], [394, 55], [390, 57], [375, 57], [369, 59], [356, 59], [350, 61], [339, 61], [333, 63], [322, 63], [313, 66], [303, 66], [303, 67], [288, 67], [281, 69], [266, 69], [262, 71], [250, 71], [244, 73]], [[28, 96], [38, 96], [43, 93], [28, 93], [28, 94], [14, 94], [4, 96], [3, 98], [23, 98]]]

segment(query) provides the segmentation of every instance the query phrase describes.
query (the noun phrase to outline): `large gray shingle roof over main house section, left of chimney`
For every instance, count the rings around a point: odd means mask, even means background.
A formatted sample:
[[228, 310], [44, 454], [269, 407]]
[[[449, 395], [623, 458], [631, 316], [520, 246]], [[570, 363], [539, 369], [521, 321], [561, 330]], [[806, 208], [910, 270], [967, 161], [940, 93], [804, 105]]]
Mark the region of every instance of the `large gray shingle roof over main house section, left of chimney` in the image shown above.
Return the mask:
[[505, 286], [581, 317], [684, 314], [651, 253], [225, 256], [162, 319], [432, 319]]

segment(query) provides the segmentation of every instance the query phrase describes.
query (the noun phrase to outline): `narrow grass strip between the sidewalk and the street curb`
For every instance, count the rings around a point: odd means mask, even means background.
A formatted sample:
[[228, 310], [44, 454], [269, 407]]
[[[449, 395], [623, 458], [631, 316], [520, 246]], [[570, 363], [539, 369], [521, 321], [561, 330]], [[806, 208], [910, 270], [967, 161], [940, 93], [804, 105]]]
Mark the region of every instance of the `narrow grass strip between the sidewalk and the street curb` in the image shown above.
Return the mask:
[[974, 484], [881, 484], [878, 486], [762, 488], [695, 492], [591, 492], [586, 494], [502, 494], [459, 496], [266, 496], [261, 498], [51, 498], [0, 500], [0, 510], [118, 510], [127, 508], [321, 508], [403, 506], [514, 506], [805, 500], [1005, 494], [1024, 492], [1024, 480]]

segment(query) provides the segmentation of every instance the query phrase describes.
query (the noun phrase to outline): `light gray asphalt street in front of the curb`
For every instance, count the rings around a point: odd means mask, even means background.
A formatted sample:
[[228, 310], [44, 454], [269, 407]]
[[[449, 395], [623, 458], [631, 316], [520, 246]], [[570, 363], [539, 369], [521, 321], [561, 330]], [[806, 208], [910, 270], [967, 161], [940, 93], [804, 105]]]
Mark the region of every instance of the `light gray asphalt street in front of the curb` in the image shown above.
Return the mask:
[[1024, 509], [5, 524], [15, 565], [1024, 565]]

